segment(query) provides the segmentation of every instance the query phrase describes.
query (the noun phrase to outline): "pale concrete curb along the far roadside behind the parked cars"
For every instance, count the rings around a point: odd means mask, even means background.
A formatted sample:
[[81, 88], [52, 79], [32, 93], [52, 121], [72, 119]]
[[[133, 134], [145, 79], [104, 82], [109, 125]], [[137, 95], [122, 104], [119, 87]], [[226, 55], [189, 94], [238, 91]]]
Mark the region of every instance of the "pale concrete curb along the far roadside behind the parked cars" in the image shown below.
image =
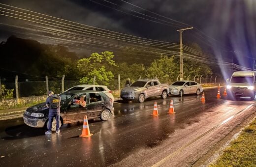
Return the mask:
[[[224, 86], [221, 86], [221, 87], [224, 87]], [[218, 86], [205, 87], [205, 88], [203, 88], [203, 90], [214, 89], [214, 88], [218, 88]], [[120, 97], [114, 98], [114, 101], [118, 101], [118, 100], [123, 100], [123, 99]], [[25, 112], [25, 110], [0, 113], [0, 120], [20, 118], [20, 117], [22, 117], [24, 112]]]

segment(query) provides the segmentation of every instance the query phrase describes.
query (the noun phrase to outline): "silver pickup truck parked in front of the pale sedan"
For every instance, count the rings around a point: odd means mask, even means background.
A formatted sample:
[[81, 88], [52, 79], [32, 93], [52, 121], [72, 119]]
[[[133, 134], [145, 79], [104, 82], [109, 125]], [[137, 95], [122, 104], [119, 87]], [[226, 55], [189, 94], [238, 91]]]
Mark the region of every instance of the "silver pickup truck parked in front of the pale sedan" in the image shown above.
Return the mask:
[[166, 99], [169, 93], [169, 85], [161, 84], [156, 79], [141, 79], [121, 90], [120, 97], [124, 101], [138, 100], [143, 103], [145, 99], [154, 96], [161, 96]]

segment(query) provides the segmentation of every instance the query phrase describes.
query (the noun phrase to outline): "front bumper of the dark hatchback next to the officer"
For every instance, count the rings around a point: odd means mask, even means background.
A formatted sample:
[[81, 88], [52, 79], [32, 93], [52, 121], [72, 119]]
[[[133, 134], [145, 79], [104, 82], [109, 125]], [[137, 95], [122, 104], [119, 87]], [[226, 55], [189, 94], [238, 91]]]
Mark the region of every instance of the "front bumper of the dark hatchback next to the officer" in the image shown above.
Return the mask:
[[31, 126], [33, 128], [42, 128], [44, 127], [44, 124], [47, 118], [32, 117], [24, 113], [23, 120], [24, 120], [24, 123], [28, 126]]

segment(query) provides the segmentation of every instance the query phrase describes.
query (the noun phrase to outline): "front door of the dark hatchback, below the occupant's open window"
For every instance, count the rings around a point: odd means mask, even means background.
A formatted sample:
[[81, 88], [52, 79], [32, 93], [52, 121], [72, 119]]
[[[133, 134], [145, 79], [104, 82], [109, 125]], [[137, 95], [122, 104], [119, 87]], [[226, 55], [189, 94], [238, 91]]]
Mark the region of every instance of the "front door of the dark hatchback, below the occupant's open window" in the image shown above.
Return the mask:
[[87, 107], [76, 104], [76, 101], [78, 101], [81, 96], [87, 96], [87, 94], [78, 94], [69, 102], [65, 111], [67, 122], [84, 119], [84, 116], [87, 114]]

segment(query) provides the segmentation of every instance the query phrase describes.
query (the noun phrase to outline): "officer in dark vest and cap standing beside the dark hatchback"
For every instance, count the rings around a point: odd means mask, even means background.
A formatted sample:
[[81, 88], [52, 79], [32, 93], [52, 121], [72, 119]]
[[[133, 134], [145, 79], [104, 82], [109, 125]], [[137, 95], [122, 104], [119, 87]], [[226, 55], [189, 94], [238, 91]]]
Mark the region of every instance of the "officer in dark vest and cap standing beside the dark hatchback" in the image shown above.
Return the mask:
[[53, 118], [56, 119], [56, 133], [60, 133], [60, 115], [61, 115], [61, 97], [58, 94], [54, 94], [52, 90], [48, 91], [48, 96], [46, 99], [46, 106], [49, 108], [49, 115], [48, 115], [48, 131], [45, 132], [45, 135], [52, 134], [52, 122]]

